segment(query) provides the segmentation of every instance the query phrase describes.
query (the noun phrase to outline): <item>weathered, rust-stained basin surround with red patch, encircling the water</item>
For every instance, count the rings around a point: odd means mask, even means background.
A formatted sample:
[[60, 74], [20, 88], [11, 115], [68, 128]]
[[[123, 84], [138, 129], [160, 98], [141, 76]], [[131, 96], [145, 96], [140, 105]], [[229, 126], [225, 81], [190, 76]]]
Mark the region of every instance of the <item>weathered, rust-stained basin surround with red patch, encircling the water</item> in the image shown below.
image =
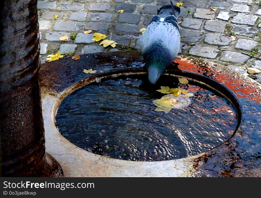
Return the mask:
[[[125, 161], [85, 151], [55, 126], [61, 101], [72, 91], [104, 77], [144, 74], [139, 52], [81, 55], [44, 63], [40, 69], [46, 151], [65, 177], [260, 177], [261, 85], [225, 66], [187, 56], [174, 60], [163, 75], [187, 77], [210, 86], [235, 107], [238, 126], [232, 137], [210, 151], [168, 161]], [[179, 65], [178, 65], [179, 64]], [[178, 66], [177, 66], [178, 65]], [[83, 69], [98, 70], [84, 74]]]

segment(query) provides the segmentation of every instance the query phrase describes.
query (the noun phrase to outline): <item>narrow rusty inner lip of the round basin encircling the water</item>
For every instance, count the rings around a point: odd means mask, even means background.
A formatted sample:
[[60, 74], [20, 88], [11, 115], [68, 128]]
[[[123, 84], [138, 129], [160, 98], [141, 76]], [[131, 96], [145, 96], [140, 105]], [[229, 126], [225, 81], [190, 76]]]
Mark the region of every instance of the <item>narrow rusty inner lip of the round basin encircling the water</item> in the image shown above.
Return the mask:
[[[78, 90], [78, 89], [80, 89], [80, 88], [82, 88], [82, 87], [84, 87], [84, 86], [86, 86], [86, 85], [88, 85], [90, 83], [97, 82], [97, 81], [99, 82], [101, 79], [106, 79], [107, 80], [107, 79], [112, 79], [113, 77], [128, 77], [130, 75], [144, 75], [144, 74], [147, 74], [147, 72], [144, 71], [143, 67], [129, 67], [129, 68], [124, 68], [124, 69], [114, 69], [114, 70], [110, 70], [110, 71], [107, 71], [107, 72], [97, 73], [97, 74], [92, 75], [90, 77], [86, 77], [86, 78], [80, 80], [79, 82], [71, 85], [70, 87], [66, 88], [64, 91], [62, 91], [59, 94], [57, 103], [55, 104], [54, 111], [53, 111], [53, 114], [52, 114], [52, 117], [53, 117], [52, 120], [55, 121], [55, 116], [57, 114], [57, 110], [58, 110], [60, 104], [72, 92], [74, 92], [74, 91], [76, 91], [76, 90]], [[229, 140], [230, 138], [232, 138], [235, 135], [236, 131], [238, 130], [238, 127], [241, 124], [242, 107], [241, 107], [241, 104], [239, 103], [237, 97], [235, 96], [235, 94], [232, 91], [230, 91], [230, 89], [228, 89], [225, 85], [223, 85], [221, 83], [218, 83], [217, 81], [215, 81], [215, 80], [213, 80], [211, 78], [208, 78], [208, 77], [203, 76], [201, 74], [188, 72], [188, 71], [175, 70], [175, 72], [174, 71], [171, 71], [170, 73], [166, 73], [165, 72], [165, 73], [162, 74], [162, 76], [164, 76], [164, 75], [170, 75], [170, 76], [174, 76], [174, 77], [184, 77], [184, 78], [187, 78], [188, 80], [194, 81], [194, 82], [196, 82], [198, 84], [205, 85], [207, 88], [209, 88], [210, 91], [212, 91], [212, 90], [215, 91], [216, 93], [221, 95], [223, 98], [225, 98], [228, 102], [230, 102], [230, 104], [233, 105], [233, 107], [234, 107], [234, 109], [236, 111], [236, 120], [235, 121], [237, 121], [237, 125], [235, 126], [235, 128], [233, 130], [233, 134], [230, 135], [229, 138], [225, 139], [223, 142], [221, 142], [217, 146], [211, 148], [209, 151], [219, 147], [220, 145], [222, 145], [224, 142], [226, 142], [227, 140]], [[187, 77], [187, 75], [189, 77]], [[196, 77], [197, 80], [195, 80], [193, 77]], [[207, 82], [209, 84], [207, 84]], [[210, 83], [211, 83], [212, 86], [210, 85]], [[215, 85], [215, 86], [213, 86], [213, 85]], [[223, 91], [225, 91], [226, 94], [221, 92], [221, 91], [219, 91], [219, 88], [223, 88]], [[229, 94], [230, 97], [228, 97], [228, 94]], [[231, 98], [233, 99], [233, 101], [231, 100]], [[55, 122], [53, 124], [56, 127]], [[58, 130], [58, 132], [59, 132], [59, 130]], [[66, 137], [64, 137], [64, 138], [66, 139]], [[69, 141], [69, 140], [67, 140], [67, 141]], [[71, 143], [71, 144], [73, 144], [73, 143]], [[75, 145], [75, 146], [77, 146], [77, 145]], [[84, 150], [84, 151], [86, 151], [86, 150]], [[90, 151], [87, 151], [87, 152], [90, 152]], [[202, 153], [206, 153], [206, 152], [207, 151], [202, 152]], [[90, 153], [92, 153], [92, 152], [90, 152]], [[200, 155], [202, 153], [198, 153], [197, 155]], [[93, 154], [95, 154], [95, 153], [93, 153]], [[98, 154], [95, 154], [95, 155], [98, 155]], [[195, 155], [193, 155], [193, 156], [195, 156]], [[103, 156], [103, 157], [107, 157], [107, 156]], [[190, 158], [190, 157], [192, 157], [192, 156], [184, 157], [184, 158]], [[113, 159], [117, 159], [117, 158], [113, 158]], [[182, 158], [179, 158], [179, 159], [182, 159]], [[119, 159], [119, 160], [124, 160], [124, 159]], [[176, 159], [173, 159], [173, 160], [176, 160]], [[135, 161], [135, 162], [140, 162], [140, 161]]]

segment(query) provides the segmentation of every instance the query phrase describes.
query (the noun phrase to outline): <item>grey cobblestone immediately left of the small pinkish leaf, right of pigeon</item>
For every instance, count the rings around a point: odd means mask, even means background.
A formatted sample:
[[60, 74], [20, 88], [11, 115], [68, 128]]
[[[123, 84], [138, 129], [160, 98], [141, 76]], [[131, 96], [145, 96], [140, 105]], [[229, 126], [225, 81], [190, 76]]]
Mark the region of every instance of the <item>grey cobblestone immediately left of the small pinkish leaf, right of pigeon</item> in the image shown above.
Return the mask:
[[231, 42], [231, 38], [220, 34], [209, 33], [206, 35], [204, 41], [211, 45], [226, 46]]

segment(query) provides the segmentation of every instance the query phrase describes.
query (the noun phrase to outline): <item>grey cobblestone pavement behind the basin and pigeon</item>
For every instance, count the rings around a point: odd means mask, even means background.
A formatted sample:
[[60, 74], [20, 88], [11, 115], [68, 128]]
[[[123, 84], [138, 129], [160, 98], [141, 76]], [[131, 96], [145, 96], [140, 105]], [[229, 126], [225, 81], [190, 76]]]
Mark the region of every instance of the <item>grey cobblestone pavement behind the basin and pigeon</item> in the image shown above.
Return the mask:
[[[38, 0], [41, 61], [45, 61], [48, 53], [58, 51], [72, 55], [139, 49], [139, 30], [147, 27], [166, 1]], [[182, 21], [180, 54], [224, 64], [246, 75], [243, 67], [261, 69], [261, 59], [243, 54], [261, 57], [261, 5], [255, 0], [178, 2], [184, 3], [178, 18]], [[118, 13], [121, 9], [124, 12]], [[83, 34], [86, 30], [93, 32]], [[102, 47], [91, 40], [94, 32], [108, 37], [112, 33], [112, 40], [119, 45]], [[70, 39], [60, 41], [66, 34]], [[236, 36], [234, 41], [233, 35]], [[261, 83], [261, 73], [249, 76]]]

